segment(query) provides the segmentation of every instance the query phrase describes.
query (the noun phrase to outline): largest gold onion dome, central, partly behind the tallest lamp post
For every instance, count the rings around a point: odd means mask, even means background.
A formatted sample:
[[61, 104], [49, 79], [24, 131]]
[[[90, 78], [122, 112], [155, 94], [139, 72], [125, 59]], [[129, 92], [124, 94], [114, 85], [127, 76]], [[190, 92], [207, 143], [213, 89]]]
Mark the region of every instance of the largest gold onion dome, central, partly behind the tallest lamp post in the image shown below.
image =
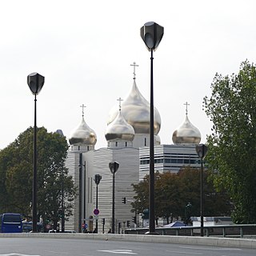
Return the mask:
[[[110, 110], [107, 124], [113, 122], [117, 115], [118, 110], [114, 107]], [[130, 94], [122, 102], [122, 116], [126, 119], [126, 122], [134, 127], [135, 134], [150, 134], [150, 104], [139, 92], [135, 79]], [[154, 108], [154, 134], [158, 134], [160, 127], [160, 114]]]

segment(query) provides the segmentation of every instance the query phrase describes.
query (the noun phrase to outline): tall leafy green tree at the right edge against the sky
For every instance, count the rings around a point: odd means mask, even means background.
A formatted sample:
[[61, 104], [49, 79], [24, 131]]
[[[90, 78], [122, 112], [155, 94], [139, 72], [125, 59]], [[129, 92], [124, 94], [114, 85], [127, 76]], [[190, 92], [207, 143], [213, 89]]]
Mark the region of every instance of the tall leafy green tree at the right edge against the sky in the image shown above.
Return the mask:
[[214, 184], [232, 202], [234, 222], [256, 222], [256, 70], [242, 62], [238, 74], [216, 74], [210, 98], [204, 98], [213, 122], [207, 162]]

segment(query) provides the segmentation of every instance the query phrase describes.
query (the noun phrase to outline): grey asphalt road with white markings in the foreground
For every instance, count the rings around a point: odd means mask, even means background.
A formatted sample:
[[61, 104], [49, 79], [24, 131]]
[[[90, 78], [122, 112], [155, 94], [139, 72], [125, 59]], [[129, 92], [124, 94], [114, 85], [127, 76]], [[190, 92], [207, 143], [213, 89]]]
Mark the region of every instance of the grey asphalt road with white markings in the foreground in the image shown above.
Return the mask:
[[255, 256], [255, 249], [58, 238], [0, 238], [0, 256]]

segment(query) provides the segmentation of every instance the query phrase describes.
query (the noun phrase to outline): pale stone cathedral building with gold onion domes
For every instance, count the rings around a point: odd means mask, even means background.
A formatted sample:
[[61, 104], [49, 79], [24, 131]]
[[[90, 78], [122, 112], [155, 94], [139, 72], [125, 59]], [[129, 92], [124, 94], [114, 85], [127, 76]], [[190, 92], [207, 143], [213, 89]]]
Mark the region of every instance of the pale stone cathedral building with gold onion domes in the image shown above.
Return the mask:
[[[122, 102], [119, 98], [119, 109], [110, 111], [106, 128], [106, 147], [95, 150], [97, 136], [85, 122], [82, 110], [81, 123], [70, 133], [70, 150], [66, 167], [74, 177], [78, 187], [78, 198], [74, 202], [74, 215], [65, 223], [66, 230], [82, 232], [82, 227], [93, 231], [98, 222], [98, 233], [108, 232], [112, 222], [112, 180], [109, 163], [119, 163], [114, 183], [115, 232], [118, 223], [122, 229], [127, 221], [133, 226], [134, 213], [130, 202], [134, 200], [131, 184], [137, 184], [150, 170], [150, 103], [138, 90], [134, 82], [130, 94]], [[186, 105], [187, 106], [187, 105]], [[199, 167], [195, 144], [201, 141], [198, 128], [186, 118], [182, 126], [173, 134], [173, 145], [161, 145], [158, 132], [161, 118], [154, 108], [154, 166], [155, 170], [177, 173], [182, 166]], [[98, 184], [98, 210], [96, 209], [95, 174], [102, 176]], [[126, 198], [126, 204], [122, 203]], [[105, 225], [102, 220], [105, 220]]]

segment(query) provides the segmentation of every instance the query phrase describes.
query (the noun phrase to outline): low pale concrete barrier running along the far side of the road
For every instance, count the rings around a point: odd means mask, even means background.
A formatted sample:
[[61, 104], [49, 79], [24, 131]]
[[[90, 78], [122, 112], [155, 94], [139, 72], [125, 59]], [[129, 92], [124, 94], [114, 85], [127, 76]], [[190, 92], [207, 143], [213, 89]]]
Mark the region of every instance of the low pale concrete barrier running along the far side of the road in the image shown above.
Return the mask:
[[74, 238], [110, 241], [130, 242], [165, 242], [185, 245], [201, 246], [225, 246], [256, 249], [256, 239], [246, 238], [214, 238], [214, 237], [190, 237], [150, 234], [81, 234], [81, 233], [6, 233], [0, 234], [0, 238]]

